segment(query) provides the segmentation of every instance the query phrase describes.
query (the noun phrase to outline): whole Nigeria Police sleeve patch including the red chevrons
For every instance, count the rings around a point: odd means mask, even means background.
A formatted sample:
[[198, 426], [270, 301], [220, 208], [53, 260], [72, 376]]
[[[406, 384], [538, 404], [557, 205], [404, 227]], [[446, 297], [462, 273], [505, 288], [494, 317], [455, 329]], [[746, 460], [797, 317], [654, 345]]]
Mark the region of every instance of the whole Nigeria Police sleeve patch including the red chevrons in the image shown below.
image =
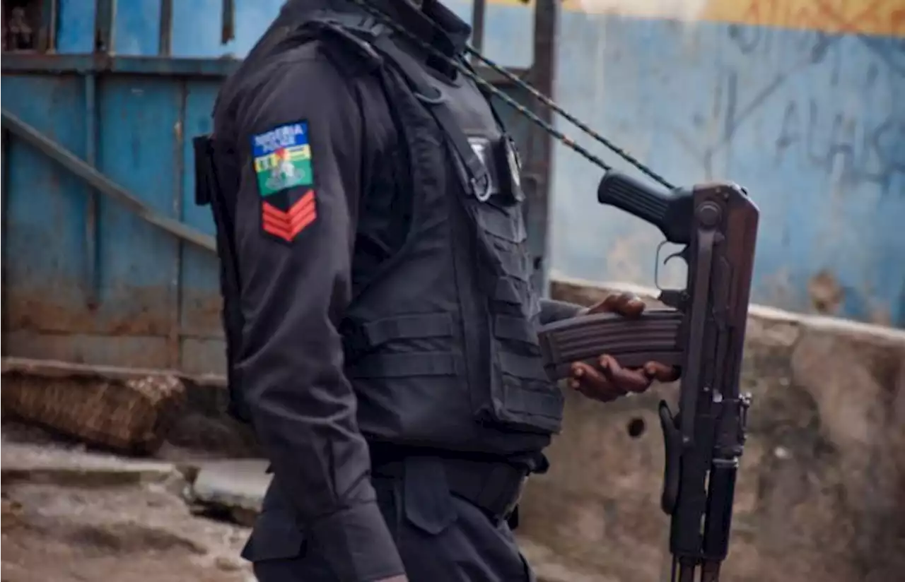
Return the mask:
[[264, 232], [291, 241], [317, 217], [308, 122], [252, 136]]

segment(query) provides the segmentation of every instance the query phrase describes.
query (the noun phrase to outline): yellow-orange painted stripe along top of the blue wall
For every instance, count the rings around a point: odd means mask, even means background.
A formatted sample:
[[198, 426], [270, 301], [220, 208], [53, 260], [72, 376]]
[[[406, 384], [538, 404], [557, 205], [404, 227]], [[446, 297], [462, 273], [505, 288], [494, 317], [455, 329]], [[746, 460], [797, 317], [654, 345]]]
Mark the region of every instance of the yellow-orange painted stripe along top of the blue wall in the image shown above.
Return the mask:
[[[487, 2], [525, 6], [521, 0]], [[563, 0], [562, 5], [586, 14], [905, 37], [905, 0]]]

